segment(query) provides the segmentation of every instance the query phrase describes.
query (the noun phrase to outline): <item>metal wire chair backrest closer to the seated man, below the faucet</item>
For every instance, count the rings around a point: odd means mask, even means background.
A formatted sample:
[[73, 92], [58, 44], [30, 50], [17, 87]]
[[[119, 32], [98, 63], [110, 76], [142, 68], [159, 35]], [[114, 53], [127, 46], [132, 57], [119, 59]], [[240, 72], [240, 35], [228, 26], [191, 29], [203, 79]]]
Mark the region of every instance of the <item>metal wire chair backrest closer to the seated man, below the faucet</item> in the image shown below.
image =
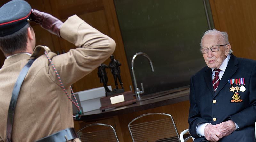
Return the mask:
[[133, 142], [180, 142], [170, 114], [148, 113], [133, 119], [128, 128]]

